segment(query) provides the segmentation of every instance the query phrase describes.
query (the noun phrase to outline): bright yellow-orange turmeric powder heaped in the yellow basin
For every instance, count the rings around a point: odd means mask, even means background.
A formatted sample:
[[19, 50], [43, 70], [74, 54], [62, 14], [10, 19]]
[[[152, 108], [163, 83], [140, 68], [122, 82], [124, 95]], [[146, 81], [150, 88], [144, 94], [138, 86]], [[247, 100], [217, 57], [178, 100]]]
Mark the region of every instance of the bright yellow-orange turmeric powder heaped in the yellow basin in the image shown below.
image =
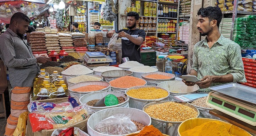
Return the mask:
[[235, 136], [230, 134], [230, 129], [226, 128], [224, 123], [212, 121], [203, 123], [192, 129], [181, 133], [181, 136]]

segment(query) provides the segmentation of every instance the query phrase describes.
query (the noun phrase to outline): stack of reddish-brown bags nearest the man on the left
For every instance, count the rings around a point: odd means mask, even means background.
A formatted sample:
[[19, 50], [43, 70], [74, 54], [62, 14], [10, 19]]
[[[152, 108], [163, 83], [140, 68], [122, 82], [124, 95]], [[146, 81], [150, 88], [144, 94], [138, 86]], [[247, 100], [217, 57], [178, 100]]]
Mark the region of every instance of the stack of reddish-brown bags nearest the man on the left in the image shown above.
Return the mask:
[[45, 33], [42, 31], [32, 31], [30, 34], [29, 44], [33, 54], [47, 53], [47, 49], [45, 47]]

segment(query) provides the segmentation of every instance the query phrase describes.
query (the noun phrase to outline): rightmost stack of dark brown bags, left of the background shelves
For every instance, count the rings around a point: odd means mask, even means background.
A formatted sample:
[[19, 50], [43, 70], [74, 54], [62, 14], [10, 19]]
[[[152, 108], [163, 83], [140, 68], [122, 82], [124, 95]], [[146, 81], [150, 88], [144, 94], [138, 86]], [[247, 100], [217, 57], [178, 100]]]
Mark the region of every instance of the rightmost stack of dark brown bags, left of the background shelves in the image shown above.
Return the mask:
[[76, 51], [87, 51], [87, 41], [82, 33], [71, 33]]

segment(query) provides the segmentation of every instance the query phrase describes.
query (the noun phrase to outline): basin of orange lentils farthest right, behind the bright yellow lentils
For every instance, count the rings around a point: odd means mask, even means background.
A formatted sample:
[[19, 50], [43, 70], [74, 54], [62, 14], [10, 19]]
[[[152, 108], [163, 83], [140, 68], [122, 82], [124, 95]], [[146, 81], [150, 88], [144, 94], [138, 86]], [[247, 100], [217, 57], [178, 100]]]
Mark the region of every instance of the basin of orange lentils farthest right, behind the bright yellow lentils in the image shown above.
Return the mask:
[[157, 86], [160, 82], [175, 80], [175, 75], [165, 72], [151, 72], [141, 75], [147, 81], [147, 85]]

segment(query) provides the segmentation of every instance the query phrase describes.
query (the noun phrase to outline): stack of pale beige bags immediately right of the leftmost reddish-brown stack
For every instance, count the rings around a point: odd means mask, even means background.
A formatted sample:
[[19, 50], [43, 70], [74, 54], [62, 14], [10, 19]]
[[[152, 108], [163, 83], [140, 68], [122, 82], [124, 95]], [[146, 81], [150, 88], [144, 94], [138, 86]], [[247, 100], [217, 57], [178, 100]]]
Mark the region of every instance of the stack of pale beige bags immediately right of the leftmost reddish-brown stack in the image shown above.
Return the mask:
[[46, 49], [48, 51], [48, 54], [51, 53], [51, 51], [55, 51], [59, 53], [60, 50], [60, 45], [59, 45], [59, 39], [58, 35], [56, 34], [45, 34], [45, 43], [46, 43]]

